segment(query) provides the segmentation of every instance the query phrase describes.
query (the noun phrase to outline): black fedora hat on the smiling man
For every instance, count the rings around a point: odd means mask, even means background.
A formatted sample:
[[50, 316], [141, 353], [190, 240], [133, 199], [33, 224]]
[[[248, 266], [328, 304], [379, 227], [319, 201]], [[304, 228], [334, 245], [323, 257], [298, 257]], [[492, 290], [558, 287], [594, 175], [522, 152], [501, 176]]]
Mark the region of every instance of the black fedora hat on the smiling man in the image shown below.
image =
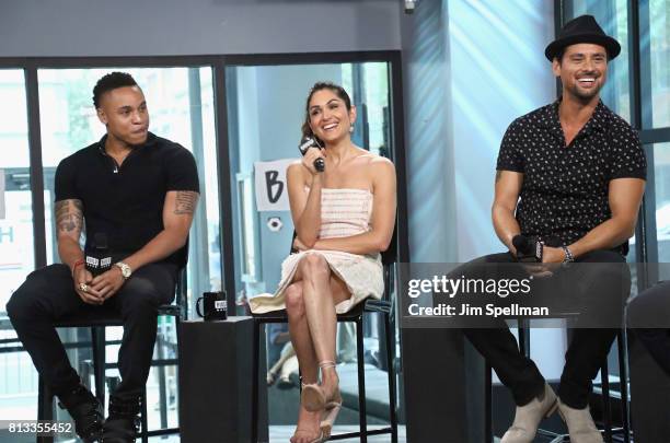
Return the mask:
[[621, 53], [619, 42], [602, 31], [593, 15], [579, 15], [563, 26], [558, 38], [544, 49], [544, 55], [552, 61], [563, 48], [578, 43], [593, 43], [603, 46], [610, 60]]

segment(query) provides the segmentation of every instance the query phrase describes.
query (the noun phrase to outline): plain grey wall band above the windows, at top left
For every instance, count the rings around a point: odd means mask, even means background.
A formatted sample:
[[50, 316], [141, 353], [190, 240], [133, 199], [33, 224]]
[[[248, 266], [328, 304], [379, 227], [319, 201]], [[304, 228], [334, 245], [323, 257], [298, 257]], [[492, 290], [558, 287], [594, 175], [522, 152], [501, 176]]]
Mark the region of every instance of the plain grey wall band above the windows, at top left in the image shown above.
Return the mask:
[[0, 57], [400, 48], [400, 0], [2, 0]]

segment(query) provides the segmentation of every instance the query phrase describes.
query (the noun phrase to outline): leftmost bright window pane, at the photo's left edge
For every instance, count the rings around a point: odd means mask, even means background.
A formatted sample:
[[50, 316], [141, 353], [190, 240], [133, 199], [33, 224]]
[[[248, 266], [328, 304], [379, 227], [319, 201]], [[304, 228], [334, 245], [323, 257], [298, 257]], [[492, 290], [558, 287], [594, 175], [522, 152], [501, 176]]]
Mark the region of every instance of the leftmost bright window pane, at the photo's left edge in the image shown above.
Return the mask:
[[[0, 70], [0, 339], [15, 339], [7, 302], [35, 269], [33, 210], [23, 70]], [[0, 346], [0, 416], [37, 418], [37, 372], [18, 342]]]

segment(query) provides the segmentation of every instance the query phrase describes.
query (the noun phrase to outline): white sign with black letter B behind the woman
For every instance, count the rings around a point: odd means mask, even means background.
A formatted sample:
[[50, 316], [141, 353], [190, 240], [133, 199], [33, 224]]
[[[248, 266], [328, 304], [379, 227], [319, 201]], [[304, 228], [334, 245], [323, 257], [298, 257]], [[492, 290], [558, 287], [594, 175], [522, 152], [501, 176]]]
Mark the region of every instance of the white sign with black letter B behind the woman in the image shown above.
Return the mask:
[[293, 159], [254, 163], [256, 208], [258, 211], [290, 211], [286, 170]]

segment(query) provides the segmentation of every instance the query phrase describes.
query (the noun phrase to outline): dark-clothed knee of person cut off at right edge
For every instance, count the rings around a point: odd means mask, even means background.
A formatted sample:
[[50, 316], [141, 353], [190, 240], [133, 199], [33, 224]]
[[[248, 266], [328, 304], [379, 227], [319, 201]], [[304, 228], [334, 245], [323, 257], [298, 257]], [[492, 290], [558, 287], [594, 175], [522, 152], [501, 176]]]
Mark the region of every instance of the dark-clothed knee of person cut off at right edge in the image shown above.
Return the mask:
[[628, 326], [670, 375], [670, 281], [640, 292], [628, 303]]

